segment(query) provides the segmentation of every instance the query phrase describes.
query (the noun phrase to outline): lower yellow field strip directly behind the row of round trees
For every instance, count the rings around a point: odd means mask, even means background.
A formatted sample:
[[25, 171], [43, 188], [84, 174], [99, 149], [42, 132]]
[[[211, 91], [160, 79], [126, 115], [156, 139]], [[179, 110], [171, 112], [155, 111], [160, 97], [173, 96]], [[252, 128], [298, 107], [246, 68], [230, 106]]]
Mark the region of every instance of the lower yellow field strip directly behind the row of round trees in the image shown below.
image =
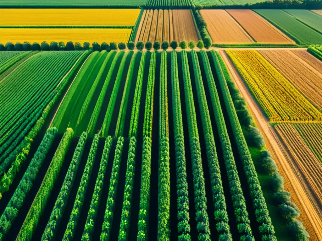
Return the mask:
[[124, 42], [127, 43], [132, 29], [30, 29], [30, 28], [10, 28], [0, 29], [0, 42], [21, 42], [28, 41], [30, 43], [43, 41], [50, 43], [51, 41], [63, 42]]

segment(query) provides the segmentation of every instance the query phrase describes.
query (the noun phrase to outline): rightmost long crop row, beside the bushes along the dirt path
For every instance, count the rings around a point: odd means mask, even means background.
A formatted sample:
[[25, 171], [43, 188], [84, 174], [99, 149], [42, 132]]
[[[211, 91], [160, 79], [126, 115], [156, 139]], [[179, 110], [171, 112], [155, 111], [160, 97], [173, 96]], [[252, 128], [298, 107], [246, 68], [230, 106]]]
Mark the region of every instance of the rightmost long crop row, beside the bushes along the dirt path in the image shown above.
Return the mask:
[[274, 236], [274, 227], [269, 216], [269, 212], [263, 196], [263, 192], [260, 187], [255, 166], [251, 159], [251, 154], [249, 152], [245, 137], [243, 135], [241, 125], [238, 121], [237, 113], [232, 102], [232, 97], [229, 93], [228, 85], [226, 83], [222, 68], [218, 60], [218, 58], [221, 58], [220, 54], [212, 50], [211, 55], [216, 67], [220, 87], [223, 92], [224, 103], [228, 112], [228, 117], [232, 125], [233, 136], [235, 138], [235, 142], [238, 147], [238, 152], [242, 160], [244, 174], [249, 186], [249, 191], [252, 199], [251, 201], [253, 203], [256, 220], [258, 222], [259, 233], [262, 236], [262, 240], [277, 240]]

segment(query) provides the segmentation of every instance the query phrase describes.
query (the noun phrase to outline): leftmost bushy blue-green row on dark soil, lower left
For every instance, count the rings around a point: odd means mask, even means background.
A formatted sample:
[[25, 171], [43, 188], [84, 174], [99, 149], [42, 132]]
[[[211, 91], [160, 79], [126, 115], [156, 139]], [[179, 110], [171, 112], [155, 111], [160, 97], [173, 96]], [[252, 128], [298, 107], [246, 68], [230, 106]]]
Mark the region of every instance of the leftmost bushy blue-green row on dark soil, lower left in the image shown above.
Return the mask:
[[40, 167], [43, 164], [43, 161], [52, 146], [52, 142], [57, 133], [57, 128], [49, 128], [42, 142], [40, 143], [37, 151], [35, 152], [33, 159], [31, 159], [30, 164], [26, 172], [24, 173], [20, 183], [18, 184], [14, 194], [12, 195], [8, 205], [5, 208], [5, 211], [0, 217], [0, 240], [3, 240], [5, 235], [9, 232], [14, 220], [18, 216], [20, 209], [24, 204], [26, 196], [29, 194], [33, 183], [36, 180], [37, 174]]

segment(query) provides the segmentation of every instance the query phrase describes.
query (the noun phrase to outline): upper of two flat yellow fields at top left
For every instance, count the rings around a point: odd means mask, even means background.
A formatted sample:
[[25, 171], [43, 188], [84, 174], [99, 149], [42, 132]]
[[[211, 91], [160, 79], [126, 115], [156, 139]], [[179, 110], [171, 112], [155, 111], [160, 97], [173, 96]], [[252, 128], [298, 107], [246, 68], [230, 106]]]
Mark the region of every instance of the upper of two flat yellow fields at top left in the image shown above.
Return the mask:
[[133, 26], [139, 9], [0, 9], [0, 26]]

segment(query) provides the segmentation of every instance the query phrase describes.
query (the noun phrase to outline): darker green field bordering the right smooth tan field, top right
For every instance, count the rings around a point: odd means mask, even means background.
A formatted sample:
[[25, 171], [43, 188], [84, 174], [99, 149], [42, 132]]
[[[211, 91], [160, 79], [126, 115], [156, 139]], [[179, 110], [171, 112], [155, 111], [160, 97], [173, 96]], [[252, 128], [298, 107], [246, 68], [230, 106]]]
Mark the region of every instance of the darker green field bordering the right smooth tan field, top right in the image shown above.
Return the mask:
[[[255, 10], [261, 16], [288, 34], [298, 44], [321, 44], [322, 34], [299, 22], [290, 14], [277, 9]], [[318, 23], [317, 23], [318, 24]]]

